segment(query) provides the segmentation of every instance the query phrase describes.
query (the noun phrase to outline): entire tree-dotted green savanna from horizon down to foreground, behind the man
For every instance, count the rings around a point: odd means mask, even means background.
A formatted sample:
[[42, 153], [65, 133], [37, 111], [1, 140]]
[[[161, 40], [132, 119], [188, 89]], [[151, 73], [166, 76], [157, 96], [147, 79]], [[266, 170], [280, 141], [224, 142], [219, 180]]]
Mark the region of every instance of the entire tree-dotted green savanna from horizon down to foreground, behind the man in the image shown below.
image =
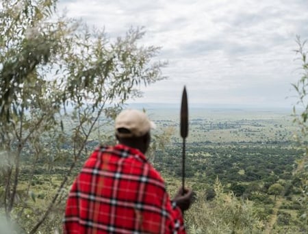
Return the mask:
[[[157, 149], [150, 157], [153, 166], [166, 180], [167, 189], [172, 196], [181, 186], [182, 139], [179, 135], [179, 109], [148, 109], [147, 113], [157, 125], [157, 129], [153, 130], [154, 141], [156, 136], [164, 133], [166, 129], [173, 129], [170, 142], [164, 149]], [[263, 225], [258, 229], [261, 233], [302, 233], [305, 230], [305, 225], [300, 220], [303, 207], [298, 202], [300, 181], [293, 174], [295, 161], [303, 155], [303, 151], [294, 140], [297, 129], [292, 122], [291, 113], [281, 110], [190, 109], [189, 118], [185, 181], [186, 185], [196, 192], [196, 202], [185, 216], [190, 233], [224, 233], [218, 231], [218, 228], [213, 227], [209, 231], [208, 227], [205, 227], [211, 226], [207, 222], [214, 222], [211, 216], [219, 219], [217, 213], [207, 212], [211, 209], [219, 210], [217, 206], [227, 201], [224, 205], [231, 205], [224, 209], [238, 209], [235, 208], [237, 206], [232, 208], [232, 204], [238, 201], [244, 204], [245, 200], [252, 204], [253, 217]], [[103, 121], [105, 120], [102, 118], [101, 122]], [[65, 124], [66, 131], [69, 131], [68, 121]], [[106, 121], [105, 129], [91, 135], [87, 153], [77, 161], [72, 176], [61, 191], [60, 202], [55, 206], [52, 216], [47, 219], [47, 229], [53, 226], [53, 229], [61, 230], [66, 196], [75, 175], [94, 146], [102, 142], [101, 134], [109, 134], [108, 139], [113, 138], [112, 129], [112, 122]], [[65, 147], [70, 151], [70, 146]], [[52, 166], [42, 161], [40, 166], [36, 167], [33, 177], [30, 175], [31, 165], [26, 164], [23, 168], [21, 185], [18, 187], [21, 193], [27, 191], [27, 184], [32, 178], [28, 192], [30, 195], [25, 201], [29, 209], [29, 217], [25, 217], [27, 222], [31, 222], [34, 213], [40, 213], [47, 206], [69, 165], [70, 160], [55, 161]], [[219, 203], [216, 198], [212, 201], [209, 194], [217, 187], [217, 181], [221, 183], [223, 193], [234, 194], [234, 198], [230, 195]], [[283, 191], [278, 195], [269, 192], [274, 183], [283, 186]], [[218, 196], [217, 190], [215, 192], [217, 197], [221, 197]], [[201, 207], [207, 209], [204, 216], [197, 214], [201, 212]], [[234, 214], [232, 216], [235, 217]], [[226, 225], [231, 222], [234, 220], [229, 220]], [[251, 227], [247, 226], [247, 229], [249, 228]], [[245, 233], [243, 230], [235, 233]]]

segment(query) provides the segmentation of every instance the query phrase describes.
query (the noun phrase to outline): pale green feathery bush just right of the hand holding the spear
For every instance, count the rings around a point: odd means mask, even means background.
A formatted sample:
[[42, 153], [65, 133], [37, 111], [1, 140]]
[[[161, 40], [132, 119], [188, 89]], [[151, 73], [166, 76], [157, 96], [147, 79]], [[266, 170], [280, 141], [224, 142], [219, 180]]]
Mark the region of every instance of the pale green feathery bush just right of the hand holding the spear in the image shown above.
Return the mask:
[[264, 222], [255, 215], [252, 202], [224, 193], [218, 180], [214, 190], [213, 200], [198, 199], [185, 213], [188, 233], [261, 233]]

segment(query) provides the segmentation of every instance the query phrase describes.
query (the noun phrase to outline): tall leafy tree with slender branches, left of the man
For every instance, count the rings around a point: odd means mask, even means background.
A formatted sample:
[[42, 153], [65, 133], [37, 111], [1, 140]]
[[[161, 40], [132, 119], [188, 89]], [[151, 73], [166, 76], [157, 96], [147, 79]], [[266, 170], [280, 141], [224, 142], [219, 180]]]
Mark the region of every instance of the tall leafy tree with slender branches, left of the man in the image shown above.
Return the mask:
[[[67, 181], [87, 142], [107, 139], [100, 129], [141, 95], [140, 85], [164, 79], [165, 63], [153, 60], [159, 48], [140, 44], [142, 29], [108, 40], [104, 31], [57, 17], [56, 2], [0, 3], [0, 213], [25, 233], [50, 233], [42, 224], [61, 222]], [[57, 192], [31, 205], [35, 172], [68, 162]]]

